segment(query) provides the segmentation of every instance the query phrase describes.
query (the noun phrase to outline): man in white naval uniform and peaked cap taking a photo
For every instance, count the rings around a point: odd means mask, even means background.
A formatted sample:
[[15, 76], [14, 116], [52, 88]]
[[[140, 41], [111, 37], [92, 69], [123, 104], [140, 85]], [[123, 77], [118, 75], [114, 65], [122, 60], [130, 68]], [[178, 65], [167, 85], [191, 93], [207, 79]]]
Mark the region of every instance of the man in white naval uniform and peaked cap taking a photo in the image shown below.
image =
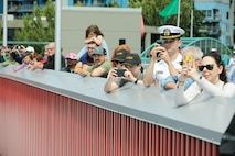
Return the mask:
[[[169, 76], [177, 76], [181, 70], [182, 42], [180, 37], [185, 33], [183, 29], [173, 25], [163, 25], [158, 29], [162, 44], [156, 44], [152, 49], [150, 64], [143, 76], [143, 83], [154, 83], [161, 87], [161, 81]], [[175, 82], [169, 82], [169, 88], [174, 88]]]

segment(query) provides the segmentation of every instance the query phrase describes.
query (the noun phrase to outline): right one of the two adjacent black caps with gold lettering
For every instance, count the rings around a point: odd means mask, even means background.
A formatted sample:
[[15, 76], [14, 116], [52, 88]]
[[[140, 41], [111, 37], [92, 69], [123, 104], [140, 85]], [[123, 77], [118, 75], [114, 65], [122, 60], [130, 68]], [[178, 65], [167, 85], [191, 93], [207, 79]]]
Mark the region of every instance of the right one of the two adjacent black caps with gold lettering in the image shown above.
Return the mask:
[[139, 64], [141, 64], [141, 59], [137, 53], [129, 53], [124, 59], [124, 65], [138, 66]]

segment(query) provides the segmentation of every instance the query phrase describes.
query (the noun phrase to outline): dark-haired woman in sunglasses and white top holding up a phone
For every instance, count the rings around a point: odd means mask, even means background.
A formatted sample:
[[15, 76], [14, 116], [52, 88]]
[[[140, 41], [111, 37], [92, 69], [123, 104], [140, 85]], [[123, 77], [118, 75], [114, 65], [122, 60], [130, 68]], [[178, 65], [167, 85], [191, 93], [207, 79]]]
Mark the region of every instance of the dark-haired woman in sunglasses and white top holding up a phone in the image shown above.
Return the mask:
[[[235, 97], [235, 85], [227, 81], [225, 65], [218, 53], [207, 53], [202, 57], [199, 66], [202, 76], [193, 67], [183, 65], [178, 89], [175, 90], [175, 104], [183, 105], [192, 101], [200, 93], [207, 93], [210, 97]], [[183, 85], [188, 77], [194, 82], [184, 90]]]

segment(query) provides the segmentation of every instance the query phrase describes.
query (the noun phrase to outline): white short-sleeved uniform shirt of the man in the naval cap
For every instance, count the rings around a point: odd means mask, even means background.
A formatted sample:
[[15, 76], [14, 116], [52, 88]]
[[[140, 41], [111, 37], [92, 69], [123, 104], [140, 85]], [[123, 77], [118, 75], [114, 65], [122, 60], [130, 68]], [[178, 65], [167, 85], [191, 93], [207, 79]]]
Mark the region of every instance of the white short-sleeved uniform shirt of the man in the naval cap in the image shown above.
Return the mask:
[[[172, 62], [175, 69], [181, 70], [182, 68], [180, 64], [181, 62], [182, 55], [179, 54], [177, 59]], [[157, 62], [153, 68], [153, 78], [157, 79], [158, 81], [161, 81], [165, 79], [168, 76], [170, 76], [168, 64], [163, 59]]]

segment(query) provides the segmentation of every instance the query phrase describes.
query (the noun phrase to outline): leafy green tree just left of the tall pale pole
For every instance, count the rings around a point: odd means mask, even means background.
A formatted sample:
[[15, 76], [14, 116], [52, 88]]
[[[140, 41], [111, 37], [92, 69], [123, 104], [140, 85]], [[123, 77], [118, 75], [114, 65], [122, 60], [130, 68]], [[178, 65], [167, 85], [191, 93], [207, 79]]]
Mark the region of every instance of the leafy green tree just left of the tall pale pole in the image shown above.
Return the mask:
[[[43, 22], [42, 16], [46, 18]], [[24, 26], [15, 31], [15, 41], [28, 42], [52, 42], [54, 41], [55, 30], [55, 5], [49, 0], [43, 8], [38, 5], [33, 10], [32, 15], [23, 18]], [[32, 44], [31, 44], [32, 45]], [[44, 45], [32, 45], [36, 53], [44, 52]]]

